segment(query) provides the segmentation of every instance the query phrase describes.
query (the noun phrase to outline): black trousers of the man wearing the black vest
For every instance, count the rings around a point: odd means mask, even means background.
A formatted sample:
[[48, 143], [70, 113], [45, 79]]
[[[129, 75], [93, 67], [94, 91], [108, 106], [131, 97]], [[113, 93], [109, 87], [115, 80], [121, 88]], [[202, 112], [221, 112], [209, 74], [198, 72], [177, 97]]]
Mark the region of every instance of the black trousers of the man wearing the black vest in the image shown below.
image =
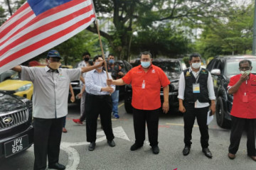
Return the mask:
[[186, 112], [183, 114], [184, 143], [185, 146], [191, 147], [192, 129], [196, 119], [201, 133], [201, 147], [206, 148], [209, 146], [209, 133], [207, 125], [207, 113], [209, 107], [195, 108], [194, 105], [194, 103], [184, 103], [184, 107], [186, 108]]

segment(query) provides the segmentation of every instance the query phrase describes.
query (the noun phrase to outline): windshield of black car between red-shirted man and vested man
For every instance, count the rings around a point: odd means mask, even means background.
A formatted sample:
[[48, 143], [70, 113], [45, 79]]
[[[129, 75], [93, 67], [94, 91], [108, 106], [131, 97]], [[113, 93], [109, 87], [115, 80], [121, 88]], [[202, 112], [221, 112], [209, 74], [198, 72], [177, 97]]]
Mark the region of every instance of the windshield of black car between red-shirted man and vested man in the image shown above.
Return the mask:
[[181, 72], [181, 65], [177, 61], [154, 61], [152, 64], [156, 65], [157, 67], [160, 67], [161, 69], [164, 70], [164, 72], [176, 72], [180, 73]]

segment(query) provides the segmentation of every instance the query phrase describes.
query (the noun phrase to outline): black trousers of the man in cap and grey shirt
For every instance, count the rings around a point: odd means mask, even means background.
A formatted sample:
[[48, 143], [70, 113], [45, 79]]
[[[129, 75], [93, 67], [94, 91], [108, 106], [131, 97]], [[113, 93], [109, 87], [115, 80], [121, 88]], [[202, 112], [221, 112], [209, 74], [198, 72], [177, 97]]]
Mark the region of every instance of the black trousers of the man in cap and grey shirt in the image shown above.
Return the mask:
[[47, 157], [48, 164], [58, 162], [64, 118], [33, 118], [34, 170], [46, 169]]

